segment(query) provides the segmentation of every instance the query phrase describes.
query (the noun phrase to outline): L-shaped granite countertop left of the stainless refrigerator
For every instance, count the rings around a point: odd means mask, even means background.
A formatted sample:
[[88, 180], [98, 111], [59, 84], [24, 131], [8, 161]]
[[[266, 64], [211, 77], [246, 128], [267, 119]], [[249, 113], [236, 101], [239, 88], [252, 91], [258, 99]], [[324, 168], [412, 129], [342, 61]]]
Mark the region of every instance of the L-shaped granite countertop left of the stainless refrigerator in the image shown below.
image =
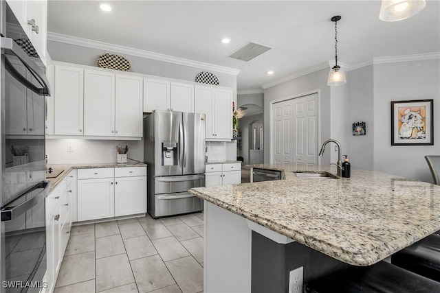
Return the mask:
[[49, 192], [52, 191], [72, 169], [91, 169], [91, 168], [117, 168], [117, 167], [145, 167], [145, 163], [84, 163], [84, 164], [50, 164], [47, 168], [63, 169], [63, 173], [56, 178], [46, 178], [50, 182]]

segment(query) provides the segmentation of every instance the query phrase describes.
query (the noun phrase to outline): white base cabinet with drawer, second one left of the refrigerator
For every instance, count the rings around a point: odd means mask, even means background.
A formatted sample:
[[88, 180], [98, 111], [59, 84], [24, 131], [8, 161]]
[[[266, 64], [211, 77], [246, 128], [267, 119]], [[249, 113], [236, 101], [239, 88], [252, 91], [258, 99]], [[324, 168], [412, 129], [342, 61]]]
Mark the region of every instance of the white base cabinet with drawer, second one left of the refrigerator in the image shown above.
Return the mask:
[[115, 216], [113, 168], [78, 169], [78, 221]]

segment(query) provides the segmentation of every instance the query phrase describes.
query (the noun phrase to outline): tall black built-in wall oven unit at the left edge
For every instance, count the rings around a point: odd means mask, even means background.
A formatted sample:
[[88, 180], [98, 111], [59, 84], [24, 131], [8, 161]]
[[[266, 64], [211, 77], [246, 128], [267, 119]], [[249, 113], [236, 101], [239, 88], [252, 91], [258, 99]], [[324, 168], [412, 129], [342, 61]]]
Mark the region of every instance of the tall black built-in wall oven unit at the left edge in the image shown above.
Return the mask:
[[45, 288], [44, 65], [4, 0], [1, 19], [1, 292]]

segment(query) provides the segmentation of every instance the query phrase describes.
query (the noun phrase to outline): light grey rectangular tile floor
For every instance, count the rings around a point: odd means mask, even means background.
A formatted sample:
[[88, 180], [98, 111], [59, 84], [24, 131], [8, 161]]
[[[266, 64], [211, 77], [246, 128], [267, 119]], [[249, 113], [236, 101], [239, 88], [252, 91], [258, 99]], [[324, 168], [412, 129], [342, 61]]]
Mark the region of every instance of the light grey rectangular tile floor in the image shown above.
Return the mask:
[[203, 213], [73, 226], [61, 292], [203, 292]]

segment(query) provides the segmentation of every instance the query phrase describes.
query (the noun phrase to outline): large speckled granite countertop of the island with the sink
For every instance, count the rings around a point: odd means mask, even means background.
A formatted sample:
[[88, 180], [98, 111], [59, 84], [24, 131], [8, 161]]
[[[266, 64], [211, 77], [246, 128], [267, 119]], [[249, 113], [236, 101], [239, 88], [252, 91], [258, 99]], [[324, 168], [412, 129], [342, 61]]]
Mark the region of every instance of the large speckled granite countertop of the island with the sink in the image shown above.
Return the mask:
[[293, 171], [336, 167], [249, 165], [276, 169], [285, 180], [190, 189], [241, 215], [345, 263], [369, 266], [440, 230], [440, 186], [351, 170], [351, 178], [298, 178]]

